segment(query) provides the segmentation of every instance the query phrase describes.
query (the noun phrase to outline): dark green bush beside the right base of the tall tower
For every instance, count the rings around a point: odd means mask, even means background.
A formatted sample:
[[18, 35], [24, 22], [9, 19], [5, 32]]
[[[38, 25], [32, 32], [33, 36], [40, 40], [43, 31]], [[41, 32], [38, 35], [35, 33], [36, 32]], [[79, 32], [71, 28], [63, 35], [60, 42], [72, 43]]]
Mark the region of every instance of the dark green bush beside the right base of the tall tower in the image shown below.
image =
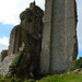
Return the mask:
[[70, 71], [77, 70], [79, 68], [82, 68], [82, 57], [80, 57], [78, 60], [73, 61], [73, 65], [70, 68]]

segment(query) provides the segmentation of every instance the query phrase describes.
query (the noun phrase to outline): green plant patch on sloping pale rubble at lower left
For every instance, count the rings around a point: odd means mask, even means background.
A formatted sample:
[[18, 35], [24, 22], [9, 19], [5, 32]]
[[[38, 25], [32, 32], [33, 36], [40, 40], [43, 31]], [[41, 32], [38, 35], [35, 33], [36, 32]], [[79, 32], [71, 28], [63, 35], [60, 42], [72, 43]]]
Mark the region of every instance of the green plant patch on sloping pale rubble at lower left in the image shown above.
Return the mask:
[[17, 55], [15, 55], [15, 57], [12, 60], [12, 63], [10, 65], [10, 68], [14, 69], [17, 67], [21, 56], [22, 56], [22, 52], [19, 52]]

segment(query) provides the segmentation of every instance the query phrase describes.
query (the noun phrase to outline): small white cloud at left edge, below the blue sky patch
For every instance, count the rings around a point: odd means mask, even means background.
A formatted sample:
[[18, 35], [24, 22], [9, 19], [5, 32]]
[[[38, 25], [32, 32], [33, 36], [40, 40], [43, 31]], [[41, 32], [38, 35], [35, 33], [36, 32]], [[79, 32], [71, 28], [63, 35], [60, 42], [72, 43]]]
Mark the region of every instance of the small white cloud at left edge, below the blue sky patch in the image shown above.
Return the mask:
[[3, 36], [2, 38], [0, 38], [0, 51], [2, 49], [8, 49], [9, 46], [9, 38]]

